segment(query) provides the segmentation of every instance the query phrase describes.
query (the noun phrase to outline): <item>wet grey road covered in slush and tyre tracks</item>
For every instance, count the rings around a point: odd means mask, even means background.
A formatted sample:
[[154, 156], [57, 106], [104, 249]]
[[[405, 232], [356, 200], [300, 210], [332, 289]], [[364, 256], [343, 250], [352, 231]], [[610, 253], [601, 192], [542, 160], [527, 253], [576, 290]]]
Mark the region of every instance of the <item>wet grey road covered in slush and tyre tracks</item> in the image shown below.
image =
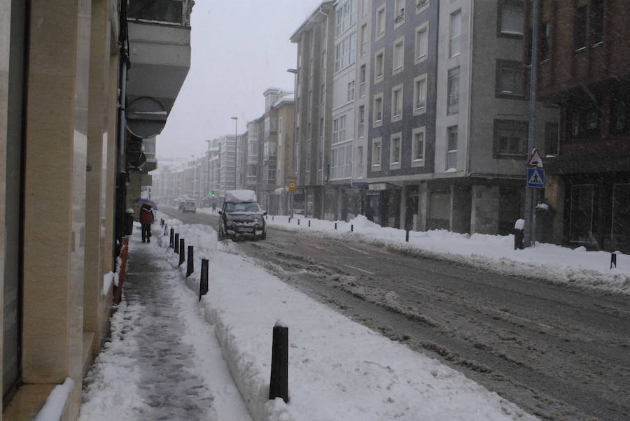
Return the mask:
[[[212, 215], [162, 209], [183, 222]], [[630, 300], [269, 228], [244, 255], [547, 420], [630, 420]]]

